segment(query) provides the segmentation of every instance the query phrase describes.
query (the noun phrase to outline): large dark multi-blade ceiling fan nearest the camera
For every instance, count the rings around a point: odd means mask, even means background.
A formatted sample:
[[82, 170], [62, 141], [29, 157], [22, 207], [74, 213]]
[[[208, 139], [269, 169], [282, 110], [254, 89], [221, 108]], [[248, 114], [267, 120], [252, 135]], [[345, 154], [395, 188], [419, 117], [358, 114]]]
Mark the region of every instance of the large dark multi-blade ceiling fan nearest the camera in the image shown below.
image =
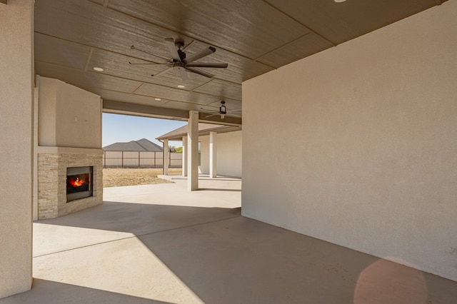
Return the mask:
[[[207, 49], [204, 49], [203, 51], [200, 51], [199, 53], [193, 54], [189, 57], [186, 56], [186, 53], [182, 51], [182, 48], [184, 47], [184, 42], [182, 41], [175, 41], [173, 38], [166, 38], [165, 39], [165, 44], [169, 49], [171, 59], [166, 62], [166, 65], [169, 66], [169, 69], [173, 68], [179, 71], [179, 74], [181, 75], [181, 79], [183, 81], [188, 80], [188, 76], [186, 71], [191, 71], [195, 74], [200, 74], [202, 76], [208, 77], [208, 78], [213, 78], [214, 75], [210, 74], [206, 71], [202, 71], [201, 69], [196, 69], [196, 68], [226, 68], [229, 66], [229, 64], [219, 64], [219, 63], [205, 63], [205, 62], [194, 62], [196, 60], [199, 60], [205, 56], [208, 56], [209, 54], [213, 54], [216, 49], [213, 46], [209, 46]], [[136, 49], [135, 46], [131, 46], [131, 49]], [[137, 49], [141, 51], [140, 49]], [[146, 51], [143, 51], [146, 54], [149, 54]], [[132, 64], [129, 61], [129, 64]], [[166, 70], [168, 71], [168, 69]], [[164, 72], [164, 71], [163, 71]], [[163, 73], [161, 72], [161, 73]], [[151, 75], [154, 76], [154, 75]]]

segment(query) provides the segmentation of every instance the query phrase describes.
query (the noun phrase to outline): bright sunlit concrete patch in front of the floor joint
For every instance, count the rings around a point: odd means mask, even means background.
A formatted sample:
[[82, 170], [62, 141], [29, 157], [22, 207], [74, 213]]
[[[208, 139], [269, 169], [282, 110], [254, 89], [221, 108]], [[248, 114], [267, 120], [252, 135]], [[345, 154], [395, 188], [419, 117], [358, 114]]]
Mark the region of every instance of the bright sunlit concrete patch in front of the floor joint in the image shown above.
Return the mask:
[[34, 278], [167, 303], [203, 303], [136, 237], [34, 258]]

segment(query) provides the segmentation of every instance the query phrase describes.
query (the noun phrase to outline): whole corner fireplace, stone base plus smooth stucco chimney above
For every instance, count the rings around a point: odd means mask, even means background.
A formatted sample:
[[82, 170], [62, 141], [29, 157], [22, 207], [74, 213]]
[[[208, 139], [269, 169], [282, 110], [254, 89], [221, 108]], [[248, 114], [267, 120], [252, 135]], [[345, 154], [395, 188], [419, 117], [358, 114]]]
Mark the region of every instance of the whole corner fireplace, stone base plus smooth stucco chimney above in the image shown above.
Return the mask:
[[[100, 96], [58, 79], [36, 76], [34, 218], [56, 218], [103, 203]], [[81, 167], [91, 172], [80, 172]], [[79, 168], [68, 172], [69, 168]], [[89, 183], [69, 189], [67, 175]], [[92, 176], [90, 176], [90, 174]], [[76, 181], [76, 179], [75, 179]], [[81, 187], [81, 188], [80, 188]]]

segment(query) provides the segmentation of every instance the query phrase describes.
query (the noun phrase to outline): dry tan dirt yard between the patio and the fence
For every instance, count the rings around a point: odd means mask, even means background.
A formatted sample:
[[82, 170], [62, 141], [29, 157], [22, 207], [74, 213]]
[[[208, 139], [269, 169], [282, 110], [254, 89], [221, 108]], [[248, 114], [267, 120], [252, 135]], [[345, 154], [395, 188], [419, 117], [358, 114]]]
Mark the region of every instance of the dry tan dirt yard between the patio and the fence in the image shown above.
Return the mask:
[[[170, 175], [181, 175], [181, 172], [181, 168], [169, 169]], [[103, 186], [106, 188], [171, 183], [157, 177], [163, 173], [161, 168], [104, 168]]]

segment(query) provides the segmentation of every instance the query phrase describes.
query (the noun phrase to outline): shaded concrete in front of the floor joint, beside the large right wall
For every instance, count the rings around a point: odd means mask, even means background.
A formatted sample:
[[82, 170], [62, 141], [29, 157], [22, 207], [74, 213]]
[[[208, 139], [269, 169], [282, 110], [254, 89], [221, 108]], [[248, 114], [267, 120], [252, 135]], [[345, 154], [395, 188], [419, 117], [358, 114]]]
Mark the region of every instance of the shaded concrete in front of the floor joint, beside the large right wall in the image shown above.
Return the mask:
[[[457, 283], [451, 280], [243, 217], [139, 239], [204, 303], [457, 299]], [[379, 261], [383, 272], [361, 277]]]

